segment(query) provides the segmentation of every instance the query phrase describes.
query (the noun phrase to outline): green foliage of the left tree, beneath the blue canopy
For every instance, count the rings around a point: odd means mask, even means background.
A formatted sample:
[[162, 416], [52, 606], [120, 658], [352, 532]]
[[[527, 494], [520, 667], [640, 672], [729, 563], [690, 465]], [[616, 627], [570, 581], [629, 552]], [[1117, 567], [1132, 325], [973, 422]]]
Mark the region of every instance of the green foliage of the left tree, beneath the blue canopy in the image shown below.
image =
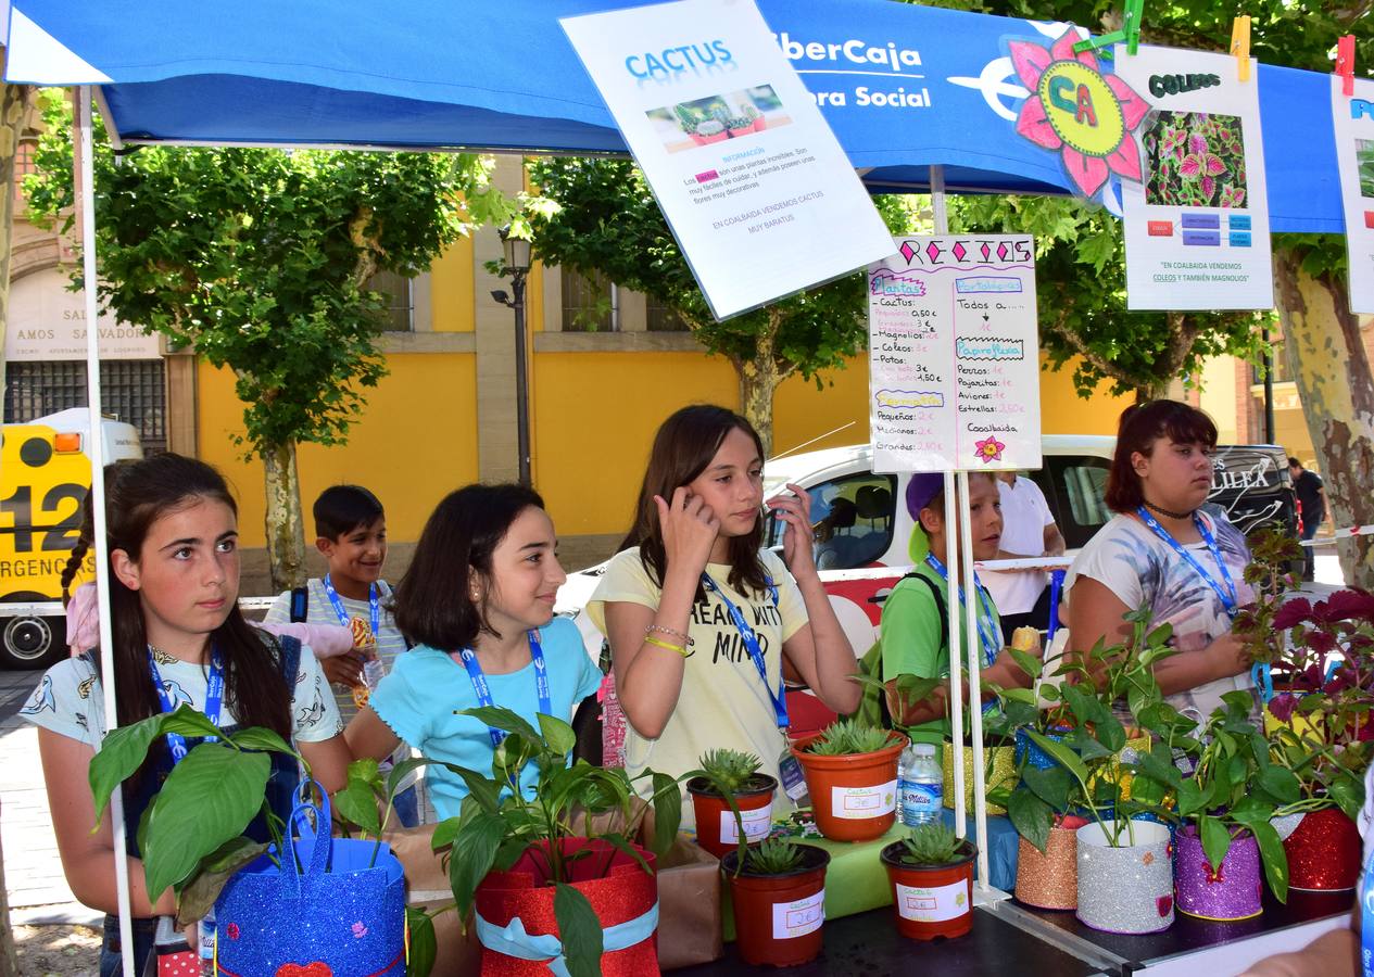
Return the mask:
[[[25, 192], [56, 221], [73, 201], [71, 113], [59, 91], [41, 99]], [[234, 371], [250, 456], [341, 444], [386, 372], [368, 278], [416, 275], [515, 206], [466, 154], [135, 147], [115, 165], [100, 132], [93, 166], [102, 305]]]

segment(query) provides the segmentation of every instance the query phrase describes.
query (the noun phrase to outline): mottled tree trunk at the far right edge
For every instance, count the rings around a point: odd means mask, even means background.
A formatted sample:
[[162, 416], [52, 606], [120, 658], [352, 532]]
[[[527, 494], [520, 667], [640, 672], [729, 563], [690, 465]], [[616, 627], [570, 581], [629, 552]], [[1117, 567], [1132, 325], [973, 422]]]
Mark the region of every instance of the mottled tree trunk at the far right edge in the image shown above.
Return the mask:
[[[1374, 377], [1349, 311], [1344, 282], [1303, 269], [1303, 253], [1274, 249], [1274, 280], [1283, 322], [1283, 356], [1297, 381], [1303, 416], [1322, 463], [1337, 526], [1374, 525]], [[1345, 583], [1374, 587], [1374, 537], [1338, 547]]]

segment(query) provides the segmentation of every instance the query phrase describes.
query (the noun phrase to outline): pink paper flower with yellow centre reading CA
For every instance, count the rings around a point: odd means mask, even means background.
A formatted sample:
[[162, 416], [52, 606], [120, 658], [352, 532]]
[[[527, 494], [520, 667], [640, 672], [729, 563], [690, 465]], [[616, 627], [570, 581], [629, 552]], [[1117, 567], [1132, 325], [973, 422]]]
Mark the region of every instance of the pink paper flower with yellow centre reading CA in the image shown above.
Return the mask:
[[1050, 48], [1011, 41], [1007, 49], [1017, 77], [1032, 92], [1021, 106], [1017, 132], [1058, 151], [1077, 192], [1092, 196], [1112, 173], [1143, 180], [1131, 133], [1150, 103], [1120, 77], [1103, 76], [1091, 51], [1074, 54], [1077, 43], [1077, 32], [1066, 27]]

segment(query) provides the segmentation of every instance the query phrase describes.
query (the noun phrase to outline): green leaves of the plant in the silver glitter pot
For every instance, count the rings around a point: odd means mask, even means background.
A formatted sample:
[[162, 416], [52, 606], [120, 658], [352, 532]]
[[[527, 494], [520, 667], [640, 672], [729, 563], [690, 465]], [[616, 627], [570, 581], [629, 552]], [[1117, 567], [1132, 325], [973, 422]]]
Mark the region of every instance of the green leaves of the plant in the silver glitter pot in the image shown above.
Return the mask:
[[1156, 662], [1173, 654], [1171, 625], [1150, 627], [1149, 609], [1125, 614], [1131, 635], [1124, 643], [1098, 643], [1081, 660], [1070, 660], [1057, 675], [1063, 731], [1051, 738], [1033, 727], [1026, 737], [1054, 760], [1044, 770], [1026, 765], [1024, 785], [1007, 805], [1017, 831], [1044, 851], [1057, 813], [1076, 811], [1095, 820], [1114, 846], [1134, 842], [1139, 813], [1168, 818], [1167, 789], [1138, 779], [1134, 757], [1123, 756], [1128, 731], [1118, 716], [1124, 706], [1139, 730], [1165, 742], [1195, 723], [1164, 702], [1154, 679]]

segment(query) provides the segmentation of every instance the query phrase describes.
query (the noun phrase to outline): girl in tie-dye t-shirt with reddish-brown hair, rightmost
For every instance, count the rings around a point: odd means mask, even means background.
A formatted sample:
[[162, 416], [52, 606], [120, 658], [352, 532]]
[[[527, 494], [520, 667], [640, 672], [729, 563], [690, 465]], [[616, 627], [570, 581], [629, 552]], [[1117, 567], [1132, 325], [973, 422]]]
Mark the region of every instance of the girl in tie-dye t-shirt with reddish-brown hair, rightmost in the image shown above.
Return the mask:
[[1069, 647], [1087, 654], [1099, 639], [1131, 633], [1123, 616], [1147, 606], [1173, 625], [1178, 654], [1154, 666], [1165, 698], [1205, 719], [1221, 695], [1252, 688], [1250, 658], [1231, 631], [1253, 602], [1245, 583], [1250, 552], [1226, 518], [1202, 513], [1212, 489], [1216, 426], [1202, 411], [1156, 400], [1121, 415], [1106, 504], [1117, 515], [1069, 568]]

